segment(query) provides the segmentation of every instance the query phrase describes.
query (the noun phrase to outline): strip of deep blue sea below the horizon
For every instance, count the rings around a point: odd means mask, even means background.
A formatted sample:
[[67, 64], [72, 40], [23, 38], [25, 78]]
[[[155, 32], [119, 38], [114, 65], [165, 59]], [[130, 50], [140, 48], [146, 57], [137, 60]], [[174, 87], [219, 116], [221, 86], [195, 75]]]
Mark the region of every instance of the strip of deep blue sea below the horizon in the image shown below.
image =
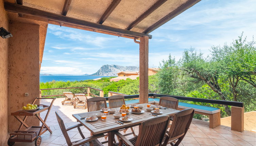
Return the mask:
[[87, 79], [96, 79], [100, 77], [110, 77], [110, 76], [46, 76], [42, 75], [40, 76], [40, 82], [48, 82], [48, 81], [81, 81], [81, 80], [87, 80]]

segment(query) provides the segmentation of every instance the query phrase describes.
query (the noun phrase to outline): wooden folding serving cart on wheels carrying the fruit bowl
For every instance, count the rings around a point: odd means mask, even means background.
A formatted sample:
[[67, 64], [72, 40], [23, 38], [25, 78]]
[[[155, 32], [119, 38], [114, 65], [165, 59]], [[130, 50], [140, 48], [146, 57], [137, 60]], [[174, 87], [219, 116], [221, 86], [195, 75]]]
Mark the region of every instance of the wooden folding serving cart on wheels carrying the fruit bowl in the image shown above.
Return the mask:
[[[35, 146], [39, 146], [41, 144], [41, 135], [44, 134], [47, 130], [52, 133], [49, 126], [46, 125], [47, 117], [50, 113], [52, 104], [56, 98], [35, 98], [32, 104], [36, 102], [37, 99], [52, 99], [52, 102], [50, 106], [47, 105], [38, 105], [38, 110], [33, 112], [27, 112], [23, 110], [18, 110], [16, 112], [12, 112], [11, 115], [13, 115], [21, 124], [19, 126], [19, 129], [17, 131], [14, 131], [13, 133], [10, 133], [10, 138], [8, 139], [7, 144], [9, 146], [14, 145], [15, 142], [33, 142], [35, 141]], [[47, 111], [47, 114], [45, 116], [45, 119], [42, 120], [39, 113], [43, 111]], [[19, 116], [24, 116], [23, 120]], [[27, 120], [28, 116], [36, 116], [39, 121], [42, 123], [42, 126], [31, 126], [29, 127], [25, 121]], [[21, 130], [22, 126], [26, 127], [27, 129]]]

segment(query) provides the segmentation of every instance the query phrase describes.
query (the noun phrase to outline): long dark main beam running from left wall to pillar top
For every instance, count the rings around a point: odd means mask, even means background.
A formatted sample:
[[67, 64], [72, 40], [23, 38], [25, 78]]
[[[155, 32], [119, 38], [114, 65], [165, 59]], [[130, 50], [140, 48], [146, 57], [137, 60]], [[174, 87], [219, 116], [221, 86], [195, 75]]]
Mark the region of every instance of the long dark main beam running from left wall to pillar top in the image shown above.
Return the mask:
[[28, 6], [18, 5], [14, 3], [4, 2], [4, 8], [6, 11], [13, 12], [13, 13], [28, 14], [31, 16], [37, 16], [37, 17], [46, 18], [49, 20], [58, 21], [58, 22], [85, 26], [88, 28], [105, 31], [109, 33], [116, 33], [120, 35], [136, 37], [136, 38], [142, 37], [142, 36], [148, 36], [150, 39], [152, 38], [152, 35], [149, 35], [149, 34], [124, 30], [124, 29], [118, 29], [118, 28], [114, 28], [114, 27], [110, 27], [110, 26], [106, 26], [98, 23], [88, 22], [80, 19], [75, 19], [75, 18], [71, 18], [71, 17], [67, 17], [67, 16], [63, 16], [63, 15], [59, 15], [51, 12], [46, 12], [46, 11], [38, 10], [36, 8], [31, 8]]

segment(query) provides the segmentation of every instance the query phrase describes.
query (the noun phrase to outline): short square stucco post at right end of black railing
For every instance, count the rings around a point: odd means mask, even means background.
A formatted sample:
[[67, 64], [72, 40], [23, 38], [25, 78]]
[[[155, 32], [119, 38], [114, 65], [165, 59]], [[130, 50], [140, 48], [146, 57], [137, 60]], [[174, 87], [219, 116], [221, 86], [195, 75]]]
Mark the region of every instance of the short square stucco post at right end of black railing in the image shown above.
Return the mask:
[[242, 132], [244, 128], [244, 107], [231, 107], [231, 130]]

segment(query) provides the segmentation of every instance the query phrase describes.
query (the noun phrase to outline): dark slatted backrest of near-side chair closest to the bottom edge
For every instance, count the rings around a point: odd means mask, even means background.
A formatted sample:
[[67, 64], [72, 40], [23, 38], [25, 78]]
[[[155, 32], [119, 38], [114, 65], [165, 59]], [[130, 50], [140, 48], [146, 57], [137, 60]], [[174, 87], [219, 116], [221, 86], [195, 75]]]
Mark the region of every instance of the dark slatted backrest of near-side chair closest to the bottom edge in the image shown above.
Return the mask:
[[169, 125], [169, 116], [157, 116], [141, 123], [135, 146], [160, 145]]

